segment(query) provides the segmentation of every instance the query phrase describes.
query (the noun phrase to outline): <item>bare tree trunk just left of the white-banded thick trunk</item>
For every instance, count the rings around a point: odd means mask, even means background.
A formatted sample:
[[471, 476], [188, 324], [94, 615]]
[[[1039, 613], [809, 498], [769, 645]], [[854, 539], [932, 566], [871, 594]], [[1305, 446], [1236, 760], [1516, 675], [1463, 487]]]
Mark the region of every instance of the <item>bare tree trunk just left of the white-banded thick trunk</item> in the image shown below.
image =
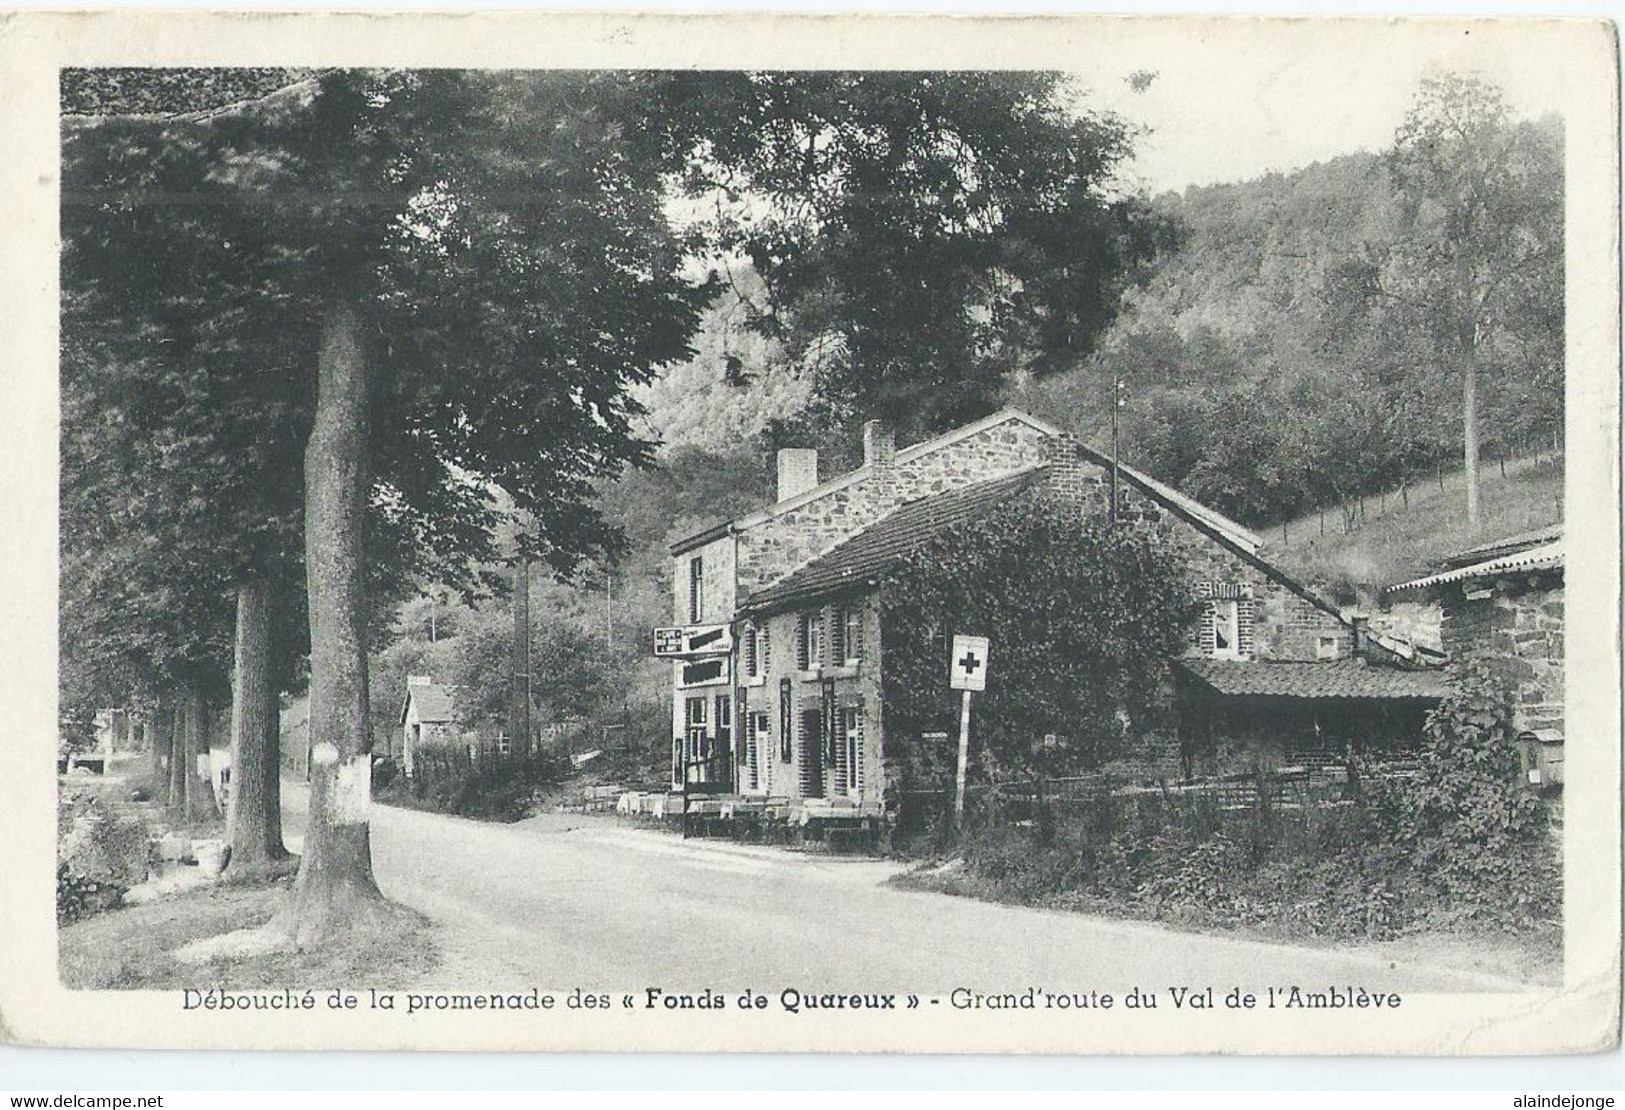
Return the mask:
[[237, 587], [237, 645], [231, 686], [231, 803], [226, 876], [254, 879], [281, 871], [281, 777], [278, 774], [276, 670], [271, 655], [271, 603], [263, 579]]

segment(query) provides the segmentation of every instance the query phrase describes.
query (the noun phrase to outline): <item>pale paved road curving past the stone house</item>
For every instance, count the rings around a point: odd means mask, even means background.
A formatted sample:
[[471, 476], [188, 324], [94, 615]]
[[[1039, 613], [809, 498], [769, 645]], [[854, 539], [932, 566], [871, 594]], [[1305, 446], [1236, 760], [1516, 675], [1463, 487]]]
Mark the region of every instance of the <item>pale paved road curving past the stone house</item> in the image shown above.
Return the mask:
[[[304, 788], [284, 790], [289, 824]], [[291, 837], [292, 839], [292, 837]], [[1176, 933], [884, 886], [895, 865], [684, 842], [608, 817], [492, 826], [374, 808], [384, 892], [442, 928], [458, 985], [601, 990], [1516, 990], [1365, 952]]]

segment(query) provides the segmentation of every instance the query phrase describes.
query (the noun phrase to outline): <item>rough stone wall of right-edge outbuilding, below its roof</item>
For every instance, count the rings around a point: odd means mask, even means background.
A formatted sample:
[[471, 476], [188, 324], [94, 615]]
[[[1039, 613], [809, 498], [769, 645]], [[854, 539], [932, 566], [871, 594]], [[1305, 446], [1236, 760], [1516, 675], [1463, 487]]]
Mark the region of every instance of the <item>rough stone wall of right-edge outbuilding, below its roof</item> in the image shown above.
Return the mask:
[[1443, 598], [1441, 637], [1456, 660], [1479, 660], [1513, 692], [1516, 728], [1563, 731], [1563, 579], [1505, 579], [1467, 598], [1451, 583]]

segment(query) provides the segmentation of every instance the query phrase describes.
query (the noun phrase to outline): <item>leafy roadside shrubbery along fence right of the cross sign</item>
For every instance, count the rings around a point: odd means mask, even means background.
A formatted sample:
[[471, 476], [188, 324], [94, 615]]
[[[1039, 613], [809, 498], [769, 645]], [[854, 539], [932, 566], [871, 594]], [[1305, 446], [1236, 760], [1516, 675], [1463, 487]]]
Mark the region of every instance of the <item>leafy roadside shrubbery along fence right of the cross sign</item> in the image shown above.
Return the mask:
[[985, 827], [949, 889], [1292, 936], [1471, 926], [1557, 933], [1562, 865], [1523, 783], [1510, 712], [1477, 671], [1428, 718], [1420, 770], [1363, 767], [1352, 800], [1222, 809], [1100, 795], [1037, 827]]

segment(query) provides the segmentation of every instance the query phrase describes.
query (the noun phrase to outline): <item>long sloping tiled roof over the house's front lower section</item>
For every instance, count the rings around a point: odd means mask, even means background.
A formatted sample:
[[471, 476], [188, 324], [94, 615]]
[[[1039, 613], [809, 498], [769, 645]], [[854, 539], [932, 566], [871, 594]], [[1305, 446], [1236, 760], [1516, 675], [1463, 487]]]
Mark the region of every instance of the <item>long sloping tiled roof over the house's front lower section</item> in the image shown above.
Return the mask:
[[1046, 465], [910, 501], [800, 570], [744, 600], [746, 613], [778, 609], [874, 580], [941, 531], [977, 520], [1043, 481]]

